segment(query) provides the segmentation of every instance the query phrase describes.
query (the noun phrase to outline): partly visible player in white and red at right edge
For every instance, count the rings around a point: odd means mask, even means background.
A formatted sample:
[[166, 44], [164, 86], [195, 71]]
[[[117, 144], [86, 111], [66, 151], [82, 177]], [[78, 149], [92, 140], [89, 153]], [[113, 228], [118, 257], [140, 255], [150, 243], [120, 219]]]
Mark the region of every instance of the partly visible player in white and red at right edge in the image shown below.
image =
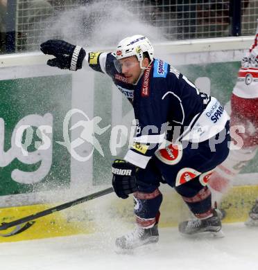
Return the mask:
[[[230, 150], [229, 156], [218, 165], [209, 179], [217, 202], [227, 192], [232, 180], [241, 169], [254, 159], [258, 148], [258, 28], [255, 42], [241, 61], [236, 85], [231, 96], [231, 130], [236, 125], [244, 127], [236, 131], [243, 140], [240, 150]], [[243, 132], [243, 133], [241, 133]], [[234, 136], [233, 136], [234, 137]], [[247, 225], [258, 226], [258, 199], [249, 213]]]

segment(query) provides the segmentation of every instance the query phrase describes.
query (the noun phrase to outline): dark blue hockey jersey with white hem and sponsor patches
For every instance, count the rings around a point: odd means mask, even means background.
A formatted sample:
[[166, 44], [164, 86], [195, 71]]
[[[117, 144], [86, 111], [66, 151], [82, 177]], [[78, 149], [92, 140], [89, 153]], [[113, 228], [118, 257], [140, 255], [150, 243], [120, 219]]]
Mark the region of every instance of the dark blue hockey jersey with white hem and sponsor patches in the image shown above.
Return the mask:
[[137, 84], [129, 84], [114, 60], [113, 53], [98, 52], [88, 53], [85, 59], [94, 71], [112, 78], [135, 111], [137, 134], [126, 161], [146, 168], [164, 141], [201, 142], [225, 127], [229, 116], [218, 100], [200, 93], [169, 63], [154, 59]]

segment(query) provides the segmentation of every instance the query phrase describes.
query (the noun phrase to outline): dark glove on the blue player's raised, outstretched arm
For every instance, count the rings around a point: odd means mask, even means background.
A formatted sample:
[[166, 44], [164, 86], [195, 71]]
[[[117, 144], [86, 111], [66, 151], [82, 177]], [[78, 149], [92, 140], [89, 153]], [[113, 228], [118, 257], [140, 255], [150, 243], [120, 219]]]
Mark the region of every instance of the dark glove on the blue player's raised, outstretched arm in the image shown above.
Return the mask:
[[45, 55], [54, 55], [55, 58], [48, 60], [49, 66], [57, 66], [59, 69], [77, 71], [83, 66], [86, 55], [83, 48], [58, 39], [49, 39], [40, 44], [40, 50]]

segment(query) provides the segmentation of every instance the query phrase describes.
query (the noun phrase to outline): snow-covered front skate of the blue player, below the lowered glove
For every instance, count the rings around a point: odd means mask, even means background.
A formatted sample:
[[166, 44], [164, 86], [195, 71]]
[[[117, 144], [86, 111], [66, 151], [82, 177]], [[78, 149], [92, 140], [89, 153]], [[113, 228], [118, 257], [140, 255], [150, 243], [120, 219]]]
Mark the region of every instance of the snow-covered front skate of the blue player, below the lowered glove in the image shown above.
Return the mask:
[[159, 240], [157, 224], [152, 228], [137, 226], [134, 231], [123, 235], [116, 240], [116, 246], [120, 249], [135, 249], [145, 244], [156, 243]]

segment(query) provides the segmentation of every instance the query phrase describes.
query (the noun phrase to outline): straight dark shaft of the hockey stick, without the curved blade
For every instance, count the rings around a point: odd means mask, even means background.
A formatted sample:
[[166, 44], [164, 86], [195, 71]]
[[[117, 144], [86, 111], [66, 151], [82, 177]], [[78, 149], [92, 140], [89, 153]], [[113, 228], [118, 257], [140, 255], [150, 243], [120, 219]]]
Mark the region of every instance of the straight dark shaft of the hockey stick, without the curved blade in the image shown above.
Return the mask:
[[50, 215], [52, 213], [58, 212], [60, 210], [64, 210], [64, 209], [72, 207], [72, 206], [76, 206], [77, 204], [82, 204], [85, 201], [90, 201], [92, 199], [101, 197], [103, 195], [107, 195], [113, 191], [114, 191], [113, 188], [106, 188], [105, 190], [98, 191], [96, 193], [93, 193], [91, 195], [87, 195], [85, 197], [81, 197], [81, 198], [76, 199], [74, 201], [69, 201], [65, 204], [60, 204], [59, 206], [55, 206], [53, 208], [43, 210], [43, 211], [35, 213], [33, 215], [28, 215], [27, 217], [22, 217], [20, 219], [14, 220], [12, 222], [4, 222], [0, 225], [0, 231], [6, 230], [7, 228], [22, 224], [24, 222], [30, 222], [31, 220], [38, 219], [39, 217], [44, 217], [45, 215]]

